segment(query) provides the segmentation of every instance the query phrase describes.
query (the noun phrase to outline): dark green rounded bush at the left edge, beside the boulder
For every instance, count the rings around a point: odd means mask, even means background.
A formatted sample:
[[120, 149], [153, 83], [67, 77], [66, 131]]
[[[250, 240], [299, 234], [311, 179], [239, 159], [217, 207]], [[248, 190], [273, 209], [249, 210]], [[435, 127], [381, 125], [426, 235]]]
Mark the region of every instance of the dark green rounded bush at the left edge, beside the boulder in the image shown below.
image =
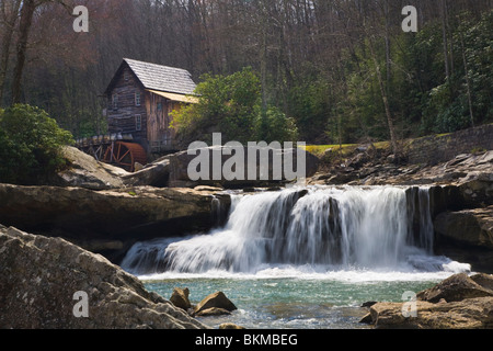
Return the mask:
[[0, 112], [0, 181], [37, 184], [65, 166], [69, 132], [38, 107], [16, 104]]

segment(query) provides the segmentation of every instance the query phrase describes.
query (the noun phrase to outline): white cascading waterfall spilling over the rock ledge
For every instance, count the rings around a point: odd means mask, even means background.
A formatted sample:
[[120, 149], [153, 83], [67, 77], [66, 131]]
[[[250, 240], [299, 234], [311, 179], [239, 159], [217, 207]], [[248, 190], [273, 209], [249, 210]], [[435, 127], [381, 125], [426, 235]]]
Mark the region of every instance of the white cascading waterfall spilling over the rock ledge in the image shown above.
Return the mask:
[[255, 272], [265, 264], [392, 269], [433, 251], [427, 189], [308, 188], [232, 195], [222, 228], [139, 242], [134, 273]]

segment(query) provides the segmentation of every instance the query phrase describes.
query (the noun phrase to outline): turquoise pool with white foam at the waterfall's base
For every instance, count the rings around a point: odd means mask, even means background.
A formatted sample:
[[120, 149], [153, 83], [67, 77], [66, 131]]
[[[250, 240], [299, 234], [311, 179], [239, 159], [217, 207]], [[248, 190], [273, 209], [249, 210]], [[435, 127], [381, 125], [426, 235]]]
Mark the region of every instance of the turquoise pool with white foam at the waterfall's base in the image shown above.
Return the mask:
[[[272, 272], [271, 272], [272, 273]], [[275, 275], [279, 275], [276, 272]], [[146, 288], [169, 298], [174, 287], [188, 287], [192, 304], [222, 291], [238, 307], [230, 316], [199, 317], [216, 328], [234, 322], [256, 329], [357, 329], [368, 301], [403, 302], [404, 292], [420, 292], [439, 282], [436, 273], [333, 271], [298, 276], [142, 278]]]

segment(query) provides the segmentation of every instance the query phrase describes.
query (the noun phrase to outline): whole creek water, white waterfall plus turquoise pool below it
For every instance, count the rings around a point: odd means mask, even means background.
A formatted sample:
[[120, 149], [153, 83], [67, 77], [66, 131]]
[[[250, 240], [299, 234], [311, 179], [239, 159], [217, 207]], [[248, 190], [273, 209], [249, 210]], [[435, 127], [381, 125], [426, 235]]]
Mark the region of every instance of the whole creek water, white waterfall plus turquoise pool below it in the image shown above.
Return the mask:
[[433, 254], [426, 188], [312, 186], [232, 194], [227, 224], [137, 242], [122, 267], [165, 298], [222, 291], [238, 307], [207, 317], [248, 328], [362, 328], [368, 301], [402, 302], [470, 265]]

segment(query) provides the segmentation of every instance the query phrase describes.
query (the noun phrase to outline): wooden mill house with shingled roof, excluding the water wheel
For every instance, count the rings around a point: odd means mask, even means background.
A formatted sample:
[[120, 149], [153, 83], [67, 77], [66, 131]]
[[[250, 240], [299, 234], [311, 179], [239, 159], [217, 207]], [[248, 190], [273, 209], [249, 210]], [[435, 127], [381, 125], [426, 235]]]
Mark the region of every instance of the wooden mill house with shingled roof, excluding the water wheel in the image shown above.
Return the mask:
[[131, 135], [148, 154], [175, 150], [171, 112], [194, 103], [185, 97], [193, 94], [195, 87], [185, 69], [124, 58], [104, 92], [108, 132]]

